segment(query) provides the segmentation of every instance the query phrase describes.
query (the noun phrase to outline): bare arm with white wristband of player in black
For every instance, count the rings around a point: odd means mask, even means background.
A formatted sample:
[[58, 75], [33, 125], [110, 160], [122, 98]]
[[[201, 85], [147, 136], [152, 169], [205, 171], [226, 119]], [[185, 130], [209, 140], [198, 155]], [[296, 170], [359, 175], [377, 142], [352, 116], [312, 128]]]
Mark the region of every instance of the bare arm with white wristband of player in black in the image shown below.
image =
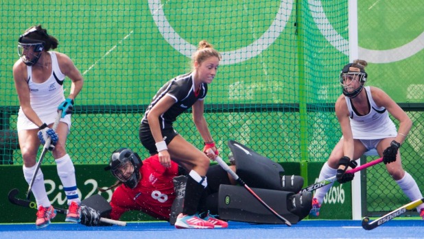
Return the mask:
[[163, 135], [161, 132], [161, 125], [159, 125], [159, 117], [164, 114], [169, 108], [174, 105], [176, 99], [165, 95], [153, 106], [153, 108], [148, 113], [148, 122], [150, 131], [152, 131], [152, 136], [154, 142], [156, 142], [156, 148], [158, 150], [159, 162], [166, 168], [171, 166], [171, 156], [169, 155], [167, 145], [163, 140]]

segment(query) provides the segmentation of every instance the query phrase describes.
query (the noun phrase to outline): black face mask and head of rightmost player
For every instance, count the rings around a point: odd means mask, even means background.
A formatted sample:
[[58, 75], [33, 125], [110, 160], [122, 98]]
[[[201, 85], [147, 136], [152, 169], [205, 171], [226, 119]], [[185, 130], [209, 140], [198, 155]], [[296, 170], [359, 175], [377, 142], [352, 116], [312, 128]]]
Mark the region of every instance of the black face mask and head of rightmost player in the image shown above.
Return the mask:
[[[340, 84], [342, 85], [343, 95], [349, 98], [355, 98], [360, 94], [364, 88], [366, 81], [366, 74], [364, 66], [357, 63], [346, 64], [340, 72]], [[355, 86], [357, 83], [359, 86]]]

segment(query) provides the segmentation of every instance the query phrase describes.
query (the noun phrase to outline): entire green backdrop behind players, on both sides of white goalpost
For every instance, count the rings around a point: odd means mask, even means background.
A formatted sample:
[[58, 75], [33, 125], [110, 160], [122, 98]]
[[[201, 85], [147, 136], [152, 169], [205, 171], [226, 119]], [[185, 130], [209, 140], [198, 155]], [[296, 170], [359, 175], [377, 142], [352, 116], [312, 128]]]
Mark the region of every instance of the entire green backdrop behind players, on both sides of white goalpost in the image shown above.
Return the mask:
[[[368, 85], [412, 109], [403, 162], [420, 187], [424, 179], [415, 165], [424, 155], [423, 8], [421, 0], [358, 3]], [[203, 39], [223, 56], [205, 101], [223, 158], [226, 142], [237, 140], [277, 162], [324, 162], [341, 136], [333, 104], [341, 93], [338, 73], [349, 62], [348, 13], [348, 1], [1, 1], [0, 163], [22, 164], [12, 65], [19, 35], [36, 24], [58, 38], [57, 51], [84, 75], [67, 142], [75, 164], [104, 164], [119, 147], [147, 156], [138, 139], [145, 107], [167, 80], [189, 71], [191, 53]], [[69, 79], [64, 87], [69, 92]], [[176, 130], [201, 148], [188, 113]], [[53, 161], [48, 154], [43, 163]], [[371, 183], [384, 177], [379, 189], [402, 198], [390, 177], [381, 175], [368, 171]], [[375, 202], [371, 211], [388, 210], [387, 200], [405, 201], [381, 199], [373, 188], [368, 193]]]

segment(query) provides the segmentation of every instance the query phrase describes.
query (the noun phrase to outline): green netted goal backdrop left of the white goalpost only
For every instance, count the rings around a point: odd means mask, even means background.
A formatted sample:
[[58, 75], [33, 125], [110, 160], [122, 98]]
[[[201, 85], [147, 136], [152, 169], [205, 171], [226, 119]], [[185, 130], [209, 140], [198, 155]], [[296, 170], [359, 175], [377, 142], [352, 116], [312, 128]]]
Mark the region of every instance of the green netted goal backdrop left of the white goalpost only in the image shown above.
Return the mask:
[[[2, 127], [16, 129], [19, 102], [11, 74], [16, 39], [42, 24], [58, 38], [57, 51], [69, 55], [84, 75], [67, 142], [77, 164], [108, 162], [119, 147], [147, 156], [137, 132], [146, 105], [167, 80], [190, 71], [191, 54], [202, 39], [223, 56], [205, 103], [224, 158], [231, 139], [276, 161], [323, 161], [332, 145], [322, 142], [340, 137], [331, 105], [340, 94], [338, 71], [349, 61], [346, 1], [71, 1], [48, 10], [1, 4], [8, 8], [1, 18], [8, 26], [1, 36], [6, 86], [1, 105], [11, 107]], [[31, 11], [22, 18], [24, 8]], [[334, 27], [333, 33], [323, 36], [320, 24]], [[178, 119], [176, 130], [202, 147], [191, 114]], [[22, 163], [19, 150], [12, 158]]]

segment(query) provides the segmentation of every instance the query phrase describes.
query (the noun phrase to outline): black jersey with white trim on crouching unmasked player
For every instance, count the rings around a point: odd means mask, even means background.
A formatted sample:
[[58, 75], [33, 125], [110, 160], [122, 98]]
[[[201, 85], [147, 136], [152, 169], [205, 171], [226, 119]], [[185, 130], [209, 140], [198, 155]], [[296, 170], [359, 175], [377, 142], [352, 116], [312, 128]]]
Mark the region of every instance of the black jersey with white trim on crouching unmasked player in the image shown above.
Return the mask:
[[141, 123], [148, 124], [148, 113], [153, 106], [162, 99], [162, 97], [167, 95], [168, 97], [172, 97], [175, 100], [175, 103], [165, 113], [159, 116], [159, 123], [161, 125], [161, 129], [169, 129], [172, 127], [172, 123], [176, 121], [176, 118], [182, 114], [182, 112], [191, 108], [196, 101], [203, 100], [207, 95], [207, 91], [207, 84], [202, 83], [200, 85], [198, 95], [195, 95], [193, 75], [191, 73], [179, 75], [178, 77], [167, 81], [167, 83], [158, 90], [156, 95], [153, 97], [152, 103], [150, 103], [145, 111]]

